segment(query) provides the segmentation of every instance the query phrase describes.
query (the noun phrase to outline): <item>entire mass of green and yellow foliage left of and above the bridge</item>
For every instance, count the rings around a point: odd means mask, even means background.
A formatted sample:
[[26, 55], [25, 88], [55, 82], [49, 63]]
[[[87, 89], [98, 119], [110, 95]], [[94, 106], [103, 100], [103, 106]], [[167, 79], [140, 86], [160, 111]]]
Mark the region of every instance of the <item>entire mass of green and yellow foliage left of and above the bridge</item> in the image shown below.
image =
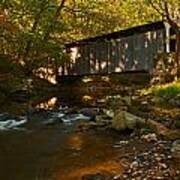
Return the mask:
[[[172, 1], [172, 0], [171, 0]], [[169, 2], [171, 2], [169, 1]], [[0, 0], [0, 54], [26, 76], [58, 73], [64, 44], [161, 19], [147, 0]]]

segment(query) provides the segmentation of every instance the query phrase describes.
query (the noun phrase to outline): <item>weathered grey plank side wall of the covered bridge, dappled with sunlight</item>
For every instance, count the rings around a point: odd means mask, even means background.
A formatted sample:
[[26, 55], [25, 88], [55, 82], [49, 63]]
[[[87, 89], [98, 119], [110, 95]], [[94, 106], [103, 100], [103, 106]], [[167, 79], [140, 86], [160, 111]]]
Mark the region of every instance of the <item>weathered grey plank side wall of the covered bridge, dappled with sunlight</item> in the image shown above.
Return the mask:
[[87, 42], [73, 48], [77, 54], [64, 64], [65, 75], [151, 71], [154, 56], [165, 51], [165, 29]]

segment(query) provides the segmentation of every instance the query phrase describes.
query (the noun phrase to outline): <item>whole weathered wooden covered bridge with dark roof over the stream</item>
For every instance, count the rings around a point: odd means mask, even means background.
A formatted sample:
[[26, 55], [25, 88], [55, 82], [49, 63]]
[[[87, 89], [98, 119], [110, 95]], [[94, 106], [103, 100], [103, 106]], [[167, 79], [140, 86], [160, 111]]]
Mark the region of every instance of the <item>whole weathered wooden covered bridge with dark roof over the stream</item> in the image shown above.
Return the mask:
[[170, 27], [159, 21], [66, 44], [70, 60], [59, 76], [150, 72], [155, 55], [170, 51], [169, 36]]

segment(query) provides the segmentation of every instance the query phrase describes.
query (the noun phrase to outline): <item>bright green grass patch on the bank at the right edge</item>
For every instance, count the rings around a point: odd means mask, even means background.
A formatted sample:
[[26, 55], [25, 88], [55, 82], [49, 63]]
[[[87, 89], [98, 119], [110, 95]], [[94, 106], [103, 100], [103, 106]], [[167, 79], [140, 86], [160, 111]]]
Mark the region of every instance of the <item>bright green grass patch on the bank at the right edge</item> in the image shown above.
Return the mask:
[[153, 94], [158, 97], [172, 98], [180, 95], [180, 79], [164, 85], [155, 85], [142, 91], [143, 94]]

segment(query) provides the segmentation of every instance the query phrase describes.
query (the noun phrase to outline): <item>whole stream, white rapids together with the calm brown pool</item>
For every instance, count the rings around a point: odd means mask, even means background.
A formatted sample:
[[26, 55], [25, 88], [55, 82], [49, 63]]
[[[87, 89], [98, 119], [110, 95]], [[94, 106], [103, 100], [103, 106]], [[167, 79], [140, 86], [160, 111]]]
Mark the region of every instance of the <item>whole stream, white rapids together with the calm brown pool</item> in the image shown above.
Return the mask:
[[[119, 136], [104, 130], [77, 131], [88, 117], [73, 111], [66, 114], [72, 105], [77, 110], [78, 101], [75, 98], [73, 104], [62, 99], [65, 98], [51, 97], [30, 106], [8, 102], [1, 106], [1, 113], [13, 114], [10, 124], [18, 127], [0, 130], [1, 180], [79, 180], [85, 174], [121, 171], [118, 156], [122, 152], [113, 147]], [[71, 102], [68, 107], [67, 102]], [[79, 102], [78, 108], [88, 103]], [[29, 109], [26, 113], [29, 107], [42, 110]], [[28, 121], [16, 126], [21, 116]]]

